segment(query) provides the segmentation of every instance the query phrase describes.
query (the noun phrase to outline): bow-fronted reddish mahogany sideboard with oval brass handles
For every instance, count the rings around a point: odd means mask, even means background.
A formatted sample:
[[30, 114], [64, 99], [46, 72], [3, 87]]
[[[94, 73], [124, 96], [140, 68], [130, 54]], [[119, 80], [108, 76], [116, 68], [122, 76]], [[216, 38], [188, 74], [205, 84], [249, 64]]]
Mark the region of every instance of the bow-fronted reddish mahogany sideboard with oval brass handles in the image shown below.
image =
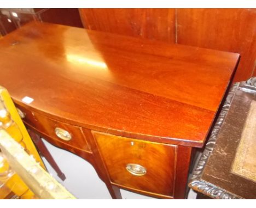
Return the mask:
[[0, 85], [28, 129], [89, 161], [112, 198], [185, 198], [240, 57], [42, 22], [0, 48]]

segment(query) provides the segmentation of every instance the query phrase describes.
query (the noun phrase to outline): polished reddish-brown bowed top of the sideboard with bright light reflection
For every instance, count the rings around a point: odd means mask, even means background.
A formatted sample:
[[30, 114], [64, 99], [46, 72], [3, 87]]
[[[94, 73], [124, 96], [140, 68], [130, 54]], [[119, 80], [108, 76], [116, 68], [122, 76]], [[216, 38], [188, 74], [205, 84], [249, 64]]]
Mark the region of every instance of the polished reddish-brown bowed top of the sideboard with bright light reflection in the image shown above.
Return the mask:
[[0, 46], [0, 83], [20, 106], [29, 96], [51, 119], [189, 146], [203, 145], [239, 57], [36, 22]]

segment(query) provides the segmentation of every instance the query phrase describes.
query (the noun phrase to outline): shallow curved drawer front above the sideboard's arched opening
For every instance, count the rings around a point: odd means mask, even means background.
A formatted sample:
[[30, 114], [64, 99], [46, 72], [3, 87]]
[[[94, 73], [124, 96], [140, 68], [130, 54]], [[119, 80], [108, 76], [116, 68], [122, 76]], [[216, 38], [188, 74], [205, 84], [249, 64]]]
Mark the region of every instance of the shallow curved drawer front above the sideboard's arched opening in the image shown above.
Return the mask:
[[90, 152], [89, 145], [80, 127], [50, 119], [44, 115], [29, 111], [22, 106], [16, 105], [16, 107], [18, 108], [19, 114], [24, 114], [21, 115], [21, 117], [24, 117], [22, 120], [39, 132], [51, 139], [59, 140], [60, 142], [72, 146], [73, 148]]

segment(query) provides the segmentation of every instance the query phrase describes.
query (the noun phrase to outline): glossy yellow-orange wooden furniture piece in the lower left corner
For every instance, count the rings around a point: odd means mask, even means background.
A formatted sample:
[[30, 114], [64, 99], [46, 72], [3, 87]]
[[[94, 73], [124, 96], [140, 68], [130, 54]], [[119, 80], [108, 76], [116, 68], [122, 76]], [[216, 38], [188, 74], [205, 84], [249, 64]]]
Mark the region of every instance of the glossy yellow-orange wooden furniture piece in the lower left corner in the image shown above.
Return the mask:
[[0, 86], [0, 199], [74, 199], [46, 171], [8, 91]]

